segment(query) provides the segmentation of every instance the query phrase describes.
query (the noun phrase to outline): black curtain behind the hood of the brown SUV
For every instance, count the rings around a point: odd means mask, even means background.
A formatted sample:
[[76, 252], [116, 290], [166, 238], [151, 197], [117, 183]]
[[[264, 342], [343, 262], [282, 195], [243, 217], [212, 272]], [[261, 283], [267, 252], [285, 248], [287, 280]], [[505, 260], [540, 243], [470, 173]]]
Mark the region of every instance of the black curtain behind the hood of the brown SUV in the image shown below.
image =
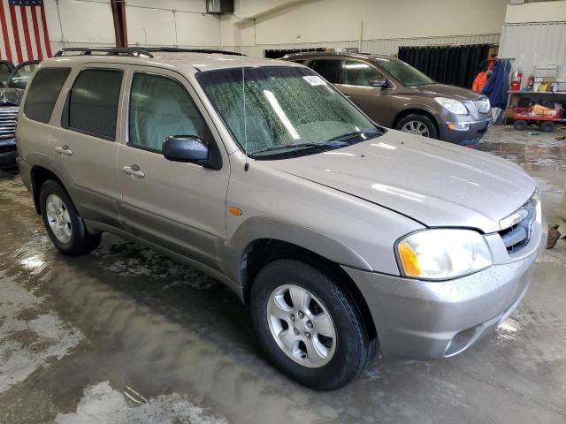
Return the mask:
[[489, 44], [400, 47], [398, 57], [437, 82], [470, 88], [490, 47]]

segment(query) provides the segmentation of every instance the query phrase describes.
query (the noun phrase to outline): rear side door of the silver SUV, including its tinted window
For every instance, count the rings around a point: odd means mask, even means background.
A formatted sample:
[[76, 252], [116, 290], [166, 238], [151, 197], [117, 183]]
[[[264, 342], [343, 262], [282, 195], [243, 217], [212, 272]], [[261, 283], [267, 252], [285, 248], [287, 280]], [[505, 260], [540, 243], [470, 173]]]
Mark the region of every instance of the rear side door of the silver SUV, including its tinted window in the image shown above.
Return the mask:
[[65, 87], [61, 126], [50, 140], [51, 157], [71, 180], [80, 215], [111, 226], [119, 226], [116, 140], [126, 71], [121, 64], [83, 64], [75, 69]]

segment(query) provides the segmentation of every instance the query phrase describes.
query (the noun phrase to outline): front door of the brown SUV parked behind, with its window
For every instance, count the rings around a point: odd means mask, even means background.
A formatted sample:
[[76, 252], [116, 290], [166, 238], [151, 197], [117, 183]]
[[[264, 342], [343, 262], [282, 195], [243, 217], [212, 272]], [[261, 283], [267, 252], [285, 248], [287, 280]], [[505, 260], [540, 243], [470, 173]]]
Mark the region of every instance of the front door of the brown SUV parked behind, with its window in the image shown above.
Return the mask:
[[386, 79], [371, 64], [363, 61], [347, 59], [342, 62], [340, 84], [336, 88], [347, 95], [356, 106], [378, 124], [386, 125], [386, 117], [390, 107], [387, 89], [371, 87], [374, 79]]

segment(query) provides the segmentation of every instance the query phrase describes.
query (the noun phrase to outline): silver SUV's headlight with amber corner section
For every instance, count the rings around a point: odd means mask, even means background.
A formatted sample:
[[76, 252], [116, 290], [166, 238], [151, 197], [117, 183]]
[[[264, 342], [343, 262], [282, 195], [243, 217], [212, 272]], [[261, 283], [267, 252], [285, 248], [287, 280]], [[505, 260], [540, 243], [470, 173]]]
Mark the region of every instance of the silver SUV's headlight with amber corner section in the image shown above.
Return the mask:
[[404, 276], [443, 280], [489, 267], [486, 240], [476, 231], [432, 229], [410, 234], [397, 243]]

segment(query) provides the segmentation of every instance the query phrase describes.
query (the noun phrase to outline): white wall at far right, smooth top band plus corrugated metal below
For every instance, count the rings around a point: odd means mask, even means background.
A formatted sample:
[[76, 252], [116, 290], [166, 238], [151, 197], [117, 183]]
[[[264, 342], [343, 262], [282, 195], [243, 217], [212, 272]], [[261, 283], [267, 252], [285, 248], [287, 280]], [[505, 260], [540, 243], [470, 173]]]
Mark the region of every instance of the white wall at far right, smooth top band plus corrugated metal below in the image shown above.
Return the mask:
[[558, 64], [566, 78], [566, 1], [509, 5], [501, 33], [500, 57], [512, 58], [524, 72], [523, 86], [535, 64]]

